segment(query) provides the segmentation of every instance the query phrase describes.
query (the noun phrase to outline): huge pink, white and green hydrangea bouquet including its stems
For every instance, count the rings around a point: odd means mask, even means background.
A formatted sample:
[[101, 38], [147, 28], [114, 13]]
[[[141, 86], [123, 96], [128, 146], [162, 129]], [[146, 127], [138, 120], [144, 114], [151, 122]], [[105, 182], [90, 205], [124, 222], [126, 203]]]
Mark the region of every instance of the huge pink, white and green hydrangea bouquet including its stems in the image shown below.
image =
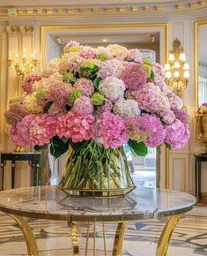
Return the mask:
[[93, 49], [70, 41], [62, 56], [29, 74], [22, 87], [25, 94], [5, 113], [10, 138], [36, 149], [50, 145], [55, 157], [71, 147], [64, 187], [104, 189], [112, 180], [122, 188], [116, 178], [126, 163], [117, 167], [124, 143], [144, 155], [147, 147], [179, 148], [189, 139], [181, 98], [166, 87], [162, 66], [142, 59], [138, 49]]

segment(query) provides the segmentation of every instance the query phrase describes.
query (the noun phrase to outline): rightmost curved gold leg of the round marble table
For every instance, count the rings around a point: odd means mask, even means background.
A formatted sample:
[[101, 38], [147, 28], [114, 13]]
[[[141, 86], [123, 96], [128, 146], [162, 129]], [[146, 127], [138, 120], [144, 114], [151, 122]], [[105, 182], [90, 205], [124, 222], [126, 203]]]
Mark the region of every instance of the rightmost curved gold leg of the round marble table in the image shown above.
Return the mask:
[[161, 237], [159, 238], [156, 256], [166, 256], [166, 252], [170, 242], [170, 237], [172, 236], [174, 228], [180, 219], [181, 215], [174, 215], [170, 217], [168, 222], [166, 222], [166, 226], [162, 231]]

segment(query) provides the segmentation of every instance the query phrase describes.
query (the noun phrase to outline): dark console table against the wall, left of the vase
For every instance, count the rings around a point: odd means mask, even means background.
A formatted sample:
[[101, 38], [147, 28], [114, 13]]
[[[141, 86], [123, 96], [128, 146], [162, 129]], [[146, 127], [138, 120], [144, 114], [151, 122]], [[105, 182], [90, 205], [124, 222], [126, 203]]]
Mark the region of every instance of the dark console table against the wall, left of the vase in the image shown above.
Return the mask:
[[7, 161], [11, 161], [11, 188], [14, 188], [15, 186], [16, 161], [27, 161], [32, 168], [32, 184], [41, 184], [41, 153], [1, 153], [2, 190], [4, 190], [4, 166], [6, 165]]

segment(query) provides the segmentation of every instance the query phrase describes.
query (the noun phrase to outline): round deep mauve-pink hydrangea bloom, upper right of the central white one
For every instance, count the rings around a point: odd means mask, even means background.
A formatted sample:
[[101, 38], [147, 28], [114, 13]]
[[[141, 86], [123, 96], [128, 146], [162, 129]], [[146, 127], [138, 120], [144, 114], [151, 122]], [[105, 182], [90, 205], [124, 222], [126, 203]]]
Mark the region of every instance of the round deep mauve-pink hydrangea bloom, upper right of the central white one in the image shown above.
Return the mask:
[[146, 72], [142, 65], [129, 63], [121, 74], [125, 86], [129, 89], [136, 90], [144, 87], [146, 83]]

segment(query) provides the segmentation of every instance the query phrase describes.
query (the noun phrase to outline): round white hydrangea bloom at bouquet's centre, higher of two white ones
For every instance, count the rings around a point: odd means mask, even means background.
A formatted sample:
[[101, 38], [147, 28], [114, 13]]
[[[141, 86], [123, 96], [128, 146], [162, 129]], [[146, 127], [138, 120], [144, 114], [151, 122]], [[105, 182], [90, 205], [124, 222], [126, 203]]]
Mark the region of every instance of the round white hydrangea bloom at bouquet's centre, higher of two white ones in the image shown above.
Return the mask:
[[111, 100], [112, 102], [122, 99], [126, 89], [123, 81], [114, 77], [107, 77], [106, 79], [100, 81], [99, 88], [100, 93], [104, 94], [107, 99]]

